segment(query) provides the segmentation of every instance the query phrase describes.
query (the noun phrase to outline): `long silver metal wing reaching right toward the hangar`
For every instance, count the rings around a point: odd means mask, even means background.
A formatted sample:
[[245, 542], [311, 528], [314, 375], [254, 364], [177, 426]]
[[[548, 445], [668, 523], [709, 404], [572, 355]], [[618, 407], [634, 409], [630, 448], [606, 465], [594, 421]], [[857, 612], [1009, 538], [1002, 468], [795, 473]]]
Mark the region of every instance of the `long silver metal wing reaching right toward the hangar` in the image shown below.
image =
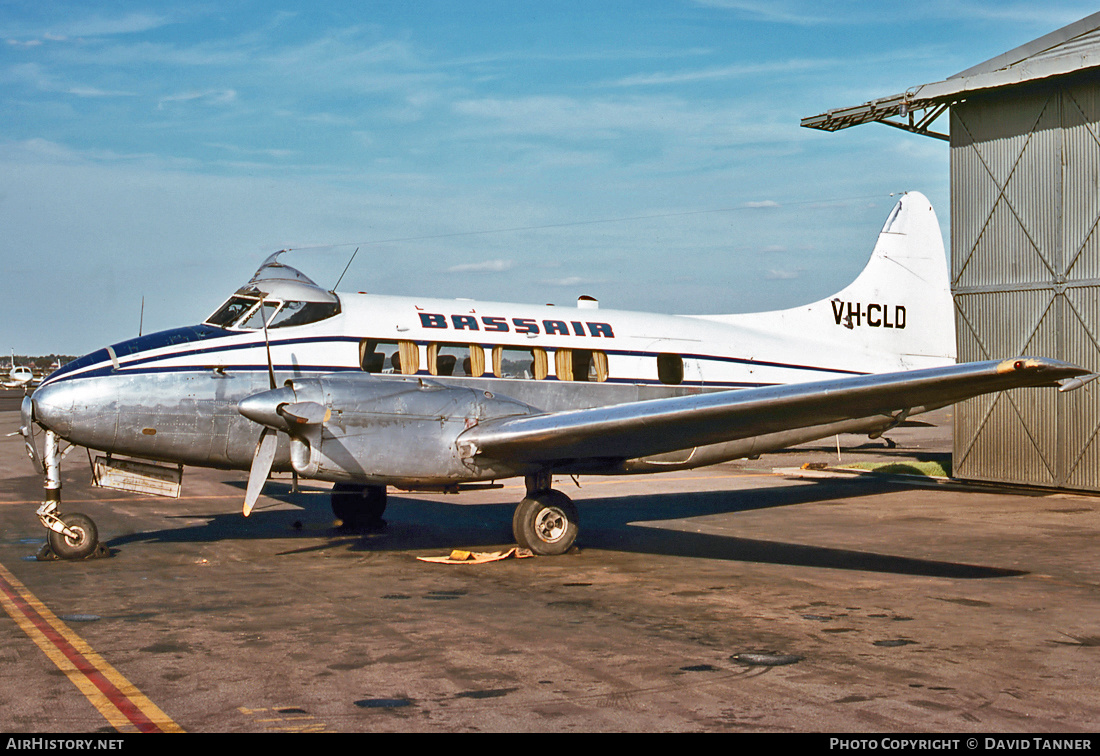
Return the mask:
[[459, 437], [464, 456], [509, 462], [635, 459], [848, 419], [895, 417], [1007, 388], [1053, 386], [1089, 371], [1015, 360], [676, 396], [487, 420]]

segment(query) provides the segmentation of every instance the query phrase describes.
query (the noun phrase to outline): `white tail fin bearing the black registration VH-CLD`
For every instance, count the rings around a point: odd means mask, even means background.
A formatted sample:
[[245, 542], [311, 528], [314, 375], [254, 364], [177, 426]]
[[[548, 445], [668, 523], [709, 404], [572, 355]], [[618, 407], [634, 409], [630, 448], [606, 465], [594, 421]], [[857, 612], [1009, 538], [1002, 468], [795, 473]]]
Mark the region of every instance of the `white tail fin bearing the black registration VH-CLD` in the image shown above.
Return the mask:
[[792, 309], [708, 320], [768, 331], [843, 360], [849, 370], [884, 372], [955, 362], [955, 311], [939, 222], [916, 191], [894, 206], [864, 272], [827, 299]]

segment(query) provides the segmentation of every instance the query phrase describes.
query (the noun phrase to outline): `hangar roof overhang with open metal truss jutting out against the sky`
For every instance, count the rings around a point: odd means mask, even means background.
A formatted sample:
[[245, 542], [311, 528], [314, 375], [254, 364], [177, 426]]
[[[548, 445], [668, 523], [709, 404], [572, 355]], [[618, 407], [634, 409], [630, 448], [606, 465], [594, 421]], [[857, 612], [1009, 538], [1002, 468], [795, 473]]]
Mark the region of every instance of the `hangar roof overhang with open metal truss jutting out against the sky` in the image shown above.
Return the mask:
[[932, 123], [967, 97], [1089, 68], [1100, 68], [1100, 13], [1075, 21], [943, 81], [922, 84], [899, 95], [810, 116], [802, 119], [802, 125], [839, 131], [860, 123], [879, 122], [948, 140], [947, 134], [932, 131]]

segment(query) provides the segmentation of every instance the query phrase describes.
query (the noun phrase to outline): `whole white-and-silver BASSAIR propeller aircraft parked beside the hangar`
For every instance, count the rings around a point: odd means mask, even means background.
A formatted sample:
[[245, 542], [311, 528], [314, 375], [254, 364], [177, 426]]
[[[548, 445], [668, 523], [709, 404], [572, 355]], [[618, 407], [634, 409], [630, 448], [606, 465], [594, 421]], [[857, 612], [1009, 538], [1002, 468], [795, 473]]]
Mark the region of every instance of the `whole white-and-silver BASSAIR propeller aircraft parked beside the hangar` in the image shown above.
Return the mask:
[[971, 396], [1066, 388], [1087, 373], [1026, 357], [955, 364], [943, 240], [916, 193], [847, 288], [749, 315], [337, 294], [279, 254], [204, 322], [91, 352], [24, 399], [56, 556], [98, 543], [90, 518], [61, 510], [62, 440], [249, 470], [245, 515], [272, 471], [331, 481], [333, 511], [351, 524], [378, 521], [387, 486], [458, 492], [519, 476], [516, 541], [556, 555], [578, 515], [553, 474], [662, 472], [839, 432], [878, 437]]

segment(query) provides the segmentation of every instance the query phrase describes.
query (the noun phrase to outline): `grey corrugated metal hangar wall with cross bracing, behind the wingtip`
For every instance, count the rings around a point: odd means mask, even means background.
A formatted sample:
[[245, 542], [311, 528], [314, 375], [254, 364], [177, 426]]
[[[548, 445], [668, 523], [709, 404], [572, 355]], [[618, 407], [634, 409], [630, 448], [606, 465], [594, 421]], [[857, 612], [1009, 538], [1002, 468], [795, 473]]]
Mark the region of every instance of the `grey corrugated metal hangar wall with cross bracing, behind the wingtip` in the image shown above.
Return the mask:
[[[952, 107], [950, 136], [959, 361], [1100, 370], [1100, 80], [972, 97]], [[1100, 381], [959, 404], [954, 474], [1100, 490]]]

